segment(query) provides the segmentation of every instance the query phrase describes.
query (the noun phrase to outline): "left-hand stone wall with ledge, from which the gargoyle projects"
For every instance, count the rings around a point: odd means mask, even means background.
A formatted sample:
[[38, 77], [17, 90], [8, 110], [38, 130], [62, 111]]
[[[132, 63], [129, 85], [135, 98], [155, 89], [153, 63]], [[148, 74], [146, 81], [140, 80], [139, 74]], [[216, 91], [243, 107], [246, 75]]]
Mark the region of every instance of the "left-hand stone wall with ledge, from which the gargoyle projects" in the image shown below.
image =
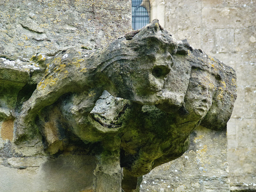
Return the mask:
[[[29, 59], [71, 46], [96, 50], [131, 30], [131, 2], [0, 1], [0, 191], [92, 192], [96, 160], [70, 145], [50, 156], [42, 141], [16, 145], [17, 96], [36, 70]], [[42, 78], [42, 77], [38, 77]], [[30, 88], [25, 91], [29, 94]]]

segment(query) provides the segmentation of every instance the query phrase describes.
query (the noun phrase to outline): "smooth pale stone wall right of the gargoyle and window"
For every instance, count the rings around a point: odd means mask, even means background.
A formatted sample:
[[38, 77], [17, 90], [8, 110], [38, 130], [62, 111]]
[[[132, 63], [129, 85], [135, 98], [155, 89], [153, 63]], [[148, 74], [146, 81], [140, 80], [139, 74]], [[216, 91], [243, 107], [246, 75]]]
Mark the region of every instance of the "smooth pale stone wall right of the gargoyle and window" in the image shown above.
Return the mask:
[[256, 183], [256, 2], [151, 0], [151, 4], [164, 4], [164, 10], [152, 14], [159, 18], [164, 14], [160, 24], [177, 39], [186, 38], [236, 70], [238, 97], [227, 126], [229, 178], [231, 190], [255, 188], [251, 183]]

